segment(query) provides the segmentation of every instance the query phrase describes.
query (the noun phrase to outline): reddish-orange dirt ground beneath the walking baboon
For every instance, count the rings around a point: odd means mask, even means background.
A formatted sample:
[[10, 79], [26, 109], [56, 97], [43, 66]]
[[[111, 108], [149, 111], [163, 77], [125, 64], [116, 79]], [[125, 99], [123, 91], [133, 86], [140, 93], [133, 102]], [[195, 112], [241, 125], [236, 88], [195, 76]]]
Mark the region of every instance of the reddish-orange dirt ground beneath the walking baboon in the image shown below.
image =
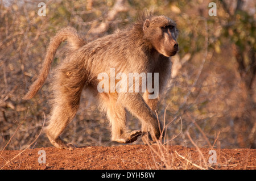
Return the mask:
[[6, 150], [0, 151], [0, 169], [256, 169], [255, 149], [209, 151], [157, 145]]

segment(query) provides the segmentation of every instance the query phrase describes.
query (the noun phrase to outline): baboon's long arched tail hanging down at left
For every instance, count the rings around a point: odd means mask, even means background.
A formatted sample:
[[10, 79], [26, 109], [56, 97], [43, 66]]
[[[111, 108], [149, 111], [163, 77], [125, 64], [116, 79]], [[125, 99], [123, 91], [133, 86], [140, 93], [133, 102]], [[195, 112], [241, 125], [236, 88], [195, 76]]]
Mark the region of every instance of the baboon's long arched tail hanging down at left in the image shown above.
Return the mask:
[[82, 47], [82, 45], [86, 44], [86, 41], [79, 35], [75, 28], [66, 27], [57, 32], [57, 34], [51, 39], [51, 42], [49, 43], [46, 58], [43, 62], [43, 68], [40, 71], [38, 79], [36, 79], [36, 81], [32, 83], [30, 89], [28, 90], [27, 94], [24, 96], [23, 99], [31, 99], [36, 94], [36, 92], [38, 92], [39, 89], [43, 86], [43, 83], [44, 81], [46, 81], [47, 75], [51, 68], [51, 63], [53, 57], [55, 56], [56, 50], [59, 47], [60, 43], [65, 40], [68, 41], [69, 49], [71, 50], [76, 50]]

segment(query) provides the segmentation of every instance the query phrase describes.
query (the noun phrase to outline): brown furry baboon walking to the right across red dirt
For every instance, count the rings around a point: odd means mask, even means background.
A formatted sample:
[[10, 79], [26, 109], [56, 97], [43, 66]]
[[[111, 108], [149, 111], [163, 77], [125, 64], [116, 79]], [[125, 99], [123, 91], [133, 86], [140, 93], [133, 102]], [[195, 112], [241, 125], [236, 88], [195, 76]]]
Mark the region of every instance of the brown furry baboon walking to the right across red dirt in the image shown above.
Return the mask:
[[[179, 50], [178, 31], [174, 20], [166, 16], [141, 15], [137, 22], [125, 30], [87, 42], [72, 27], [57, 32], [51, 39], [43, 68], [32, 83], [24, 99], [31, 99], [47, 78], [55, 52], [62, 41], [67, 40], [68, 50], [64, 60], [54, 70], [52, 82], [53, 100], [46, 134], [52, 145], [69, 149], [60, 134], [71, 122], [79, 108], [83, 89], [98, 100], [99, 108], [112, 125], [112, 141], [130, 143], [146, 133], [152, 141], [161, 136], [162, 124], [156, 115], [161, 92], [171, 75], [171, 60]], [[99, 73], [110, 74], [110, 68], [122, 73], [159, 73], [159, 95], [149, 99], [154, 92], [99, 92]], [[130, 131], [126, 127], [127, 111], [142, 124], [141, 130]]]

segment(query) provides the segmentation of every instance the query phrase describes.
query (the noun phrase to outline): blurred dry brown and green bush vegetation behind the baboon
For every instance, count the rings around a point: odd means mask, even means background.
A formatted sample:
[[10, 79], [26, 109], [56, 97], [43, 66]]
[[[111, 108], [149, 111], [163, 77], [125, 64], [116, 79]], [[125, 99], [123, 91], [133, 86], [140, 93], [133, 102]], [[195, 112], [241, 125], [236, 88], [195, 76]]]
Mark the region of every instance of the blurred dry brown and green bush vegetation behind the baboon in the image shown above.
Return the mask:
[[[46, 16], [38, 15], [39, 2], [46, 3]], [[145, 9], [174, 19], [180, 31], [172, 80], [159, 107], [160, 120], [168, 124], [168, 144], [193, 146], [189, 133], [199, 147], [256, 148], [255, 2], [216, 1], [217, 16], [209, 16], [209, 2], [0, 1], [0, 150], [13, 135], [5, 149], [23, 149], [42, 129], [50, 111], [48, 82], [35, 98], [25, 101], [22, 96], [35, 81], [57, 30], [73, 26], [90, 41], [129, 26]], [[110, 18], [113, 10], [118, 11]], [[53, 66], [63, 58], [63, 48]], [[140, 127], [133, 116], [127, 125]], [[86, 92], [63, 137], [79, 146], [114, 144], [108, 121]], [[45, 134], [35, 145], [42, 146], [51, 146]]]

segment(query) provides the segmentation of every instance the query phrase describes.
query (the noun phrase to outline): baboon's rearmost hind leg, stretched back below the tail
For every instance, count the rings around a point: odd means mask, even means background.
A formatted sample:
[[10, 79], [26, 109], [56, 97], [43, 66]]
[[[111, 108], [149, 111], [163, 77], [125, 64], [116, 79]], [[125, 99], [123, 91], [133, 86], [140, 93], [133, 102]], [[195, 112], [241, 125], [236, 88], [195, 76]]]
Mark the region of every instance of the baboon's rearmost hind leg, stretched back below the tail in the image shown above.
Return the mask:
[[[63, 71], [58, 71], [56, 81], [53, 82], [53, 99], [51, 117], [46, 128], [49, 141], [56, 148], [72, 149], [72, 144], [67, 144], [60, 138], [60, 134], [75, 117], [79, 108], [80, 96], [82, 91], [79, 78], [68, 77]], [[81, 79], [80, 79], [81, 80]]]

